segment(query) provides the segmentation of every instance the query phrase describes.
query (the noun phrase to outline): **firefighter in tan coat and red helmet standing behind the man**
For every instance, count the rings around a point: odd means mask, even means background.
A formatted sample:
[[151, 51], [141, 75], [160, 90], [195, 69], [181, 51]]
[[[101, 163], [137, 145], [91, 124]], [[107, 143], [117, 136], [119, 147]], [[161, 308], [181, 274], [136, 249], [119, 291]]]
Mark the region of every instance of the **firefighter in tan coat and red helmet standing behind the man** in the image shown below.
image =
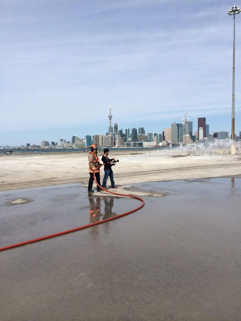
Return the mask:
[[[89, 152], [89, 173], [90, 173], [90, 179], [88, 184], [88, 192], [94, 192], [92, 189], [93, 182], [94, 182], [94, 173], [95, 173], [95, 179], [96, 182], [101, 186], [100, 182], [100, 168], [96, 169], [100, 165], [100, 160], [97, 155], [97, 148], [98, 146], [96, 144], [91, 145], [89, 148], [91, 148]], [[100, 187], [97, 185], [97, 192], [100, 191]]]

